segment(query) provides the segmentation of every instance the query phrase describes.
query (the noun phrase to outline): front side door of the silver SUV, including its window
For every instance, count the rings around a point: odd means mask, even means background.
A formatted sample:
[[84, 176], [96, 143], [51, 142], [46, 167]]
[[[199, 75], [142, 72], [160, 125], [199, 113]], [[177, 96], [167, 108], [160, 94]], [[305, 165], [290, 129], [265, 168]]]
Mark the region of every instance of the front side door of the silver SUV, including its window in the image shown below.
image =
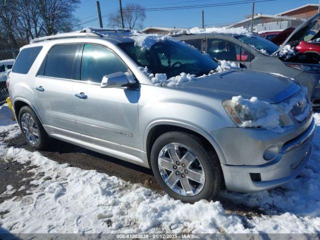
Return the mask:
[[76, 124], [85, 141], [124, 152], [139, 150], [139, 89], [100, 87], [104, 75], [118, 71], [128, 68], [112, 51], [84, 44], [79, 80], [72, 89]]

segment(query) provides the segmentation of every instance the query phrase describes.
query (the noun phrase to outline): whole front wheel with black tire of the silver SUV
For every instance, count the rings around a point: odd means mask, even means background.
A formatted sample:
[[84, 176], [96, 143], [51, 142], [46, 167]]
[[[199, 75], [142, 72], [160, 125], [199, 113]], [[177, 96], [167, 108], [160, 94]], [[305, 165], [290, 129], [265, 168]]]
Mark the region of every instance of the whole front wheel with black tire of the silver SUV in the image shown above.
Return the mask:
[[221, 168], [215, 152], [195, 135], [170, 131], [160, 135], [151, 149], [155, 178], [169, 196], [193, 203], [210, 200], [221, 188]]

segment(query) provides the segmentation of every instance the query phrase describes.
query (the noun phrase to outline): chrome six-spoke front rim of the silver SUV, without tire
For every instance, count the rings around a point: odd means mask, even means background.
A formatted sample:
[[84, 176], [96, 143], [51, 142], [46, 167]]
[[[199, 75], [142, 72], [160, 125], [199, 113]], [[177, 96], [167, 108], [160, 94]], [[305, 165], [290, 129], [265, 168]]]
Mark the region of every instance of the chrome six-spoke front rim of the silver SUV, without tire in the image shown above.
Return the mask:
[[205, 174], [198, 156], [181, 143], [166, 144], [158, 155], [158, 167], [164, 182], [183, 196], [198, 194]]

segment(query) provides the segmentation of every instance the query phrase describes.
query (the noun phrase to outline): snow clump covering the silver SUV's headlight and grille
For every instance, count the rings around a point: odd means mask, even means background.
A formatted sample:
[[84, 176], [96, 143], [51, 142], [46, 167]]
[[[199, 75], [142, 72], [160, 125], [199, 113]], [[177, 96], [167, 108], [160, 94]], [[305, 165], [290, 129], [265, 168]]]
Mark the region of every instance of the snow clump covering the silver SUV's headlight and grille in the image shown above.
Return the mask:
[[[295, 95], [290, 97], [286, 101], [282, 101], [277, 104], [270, 104], [269, 102], [259, 100], [253, 96], [250, 99], [246, 99], [239, 96], [233, 96], [231, 102], [240, 107], [241, 115], [246, 116], [247, 120], [243, 120], [240, 124], [242, 127], [262, 127], [271, 129], [275, 132], [283, 132], [284, 126], [281, 126], [279, 116], [281, 114], [289, 114], [292, 106], [296, 102], [302, 102], [306, 100], [305, 92], [300, 89]], [[308, 114], [309, 108], [306, 107], [304, 111], [295, 116], [297, 120], [302, 120]]]

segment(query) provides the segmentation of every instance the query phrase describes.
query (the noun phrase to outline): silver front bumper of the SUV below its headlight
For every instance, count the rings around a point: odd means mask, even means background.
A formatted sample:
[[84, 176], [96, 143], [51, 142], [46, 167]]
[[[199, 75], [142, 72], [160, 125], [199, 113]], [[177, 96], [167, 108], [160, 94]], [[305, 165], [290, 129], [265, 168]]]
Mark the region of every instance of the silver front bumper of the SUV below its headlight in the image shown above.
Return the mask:
[[[272, 161], [261, 165], [221, 164], [226, 188], [250, 192], [270, 189], [293, 178], [304, 168], [311, 152], [314, 119], [305, 131], [282, 144]], [[249, 153], [247, 152], [249, 157]], [[264, 161], [266, 162], [266, 161]]]

